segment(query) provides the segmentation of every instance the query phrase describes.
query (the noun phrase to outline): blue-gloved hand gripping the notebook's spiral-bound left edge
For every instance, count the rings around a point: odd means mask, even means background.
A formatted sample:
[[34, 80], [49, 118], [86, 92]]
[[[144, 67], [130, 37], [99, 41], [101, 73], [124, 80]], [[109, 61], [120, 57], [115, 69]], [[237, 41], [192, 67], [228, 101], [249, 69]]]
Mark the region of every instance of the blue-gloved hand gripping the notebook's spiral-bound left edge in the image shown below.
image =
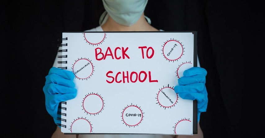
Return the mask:
[[74, 74], [61, 68], [52, 67], [45, 77], [43, 87], [45, 94], [45, 106], [48, 113], [53, 117], [57, 125], [61, 124], [60, 114], [57, 114], [61, 101], [70, 100], [76, 97], [77, 90], [74, 88]]

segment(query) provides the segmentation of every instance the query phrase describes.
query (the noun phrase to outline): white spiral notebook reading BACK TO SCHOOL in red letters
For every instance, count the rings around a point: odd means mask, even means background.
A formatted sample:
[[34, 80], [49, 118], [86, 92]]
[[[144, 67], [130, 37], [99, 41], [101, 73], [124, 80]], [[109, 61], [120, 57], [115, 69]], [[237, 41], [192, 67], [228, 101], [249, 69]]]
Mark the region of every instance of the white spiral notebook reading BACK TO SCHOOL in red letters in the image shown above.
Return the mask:
[[63, 32], [59, 68], [77, 96], [61, 102], [65, 134], [197, 133], [197, 102], [174, 91], [197, 66], [196, 32]]

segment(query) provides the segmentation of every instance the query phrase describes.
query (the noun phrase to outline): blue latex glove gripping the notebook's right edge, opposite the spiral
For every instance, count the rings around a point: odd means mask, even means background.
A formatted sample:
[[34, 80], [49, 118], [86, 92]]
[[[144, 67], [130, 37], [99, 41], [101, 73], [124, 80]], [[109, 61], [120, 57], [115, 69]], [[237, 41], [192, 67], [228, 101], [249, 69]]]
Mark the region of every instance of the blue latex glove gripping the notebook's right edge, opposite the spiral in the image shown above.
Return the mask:
[[174, 90], [182, 99], [197, 100], [199, 121], [200, 113], [206, 111], [208, 104], [205, 87], [207, 71], [201, 67], [191, 67], [185, 70], [183, 75], [178, 79], [179, 86], [175, 86]]

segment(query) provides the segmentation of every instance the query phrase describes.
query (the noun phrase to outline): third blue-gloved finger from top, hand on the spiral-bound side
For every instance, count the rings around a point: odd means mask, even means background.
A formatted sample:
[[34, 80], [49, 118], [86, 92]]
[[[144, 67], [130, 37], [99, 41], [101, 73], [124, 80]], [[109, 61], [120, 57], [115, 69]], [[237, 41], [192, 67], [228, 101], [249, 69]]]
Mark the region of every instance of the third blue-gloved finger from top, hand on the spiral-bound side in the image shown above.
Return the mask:
[[58, 85], [58, 84], [47, 84], [47, 85], [44, 85], [43, 92], [49, 95], [66, 94], [66, 93], [75, 94], [77, 90], [76, 88], [65, 87], [65, 86]]

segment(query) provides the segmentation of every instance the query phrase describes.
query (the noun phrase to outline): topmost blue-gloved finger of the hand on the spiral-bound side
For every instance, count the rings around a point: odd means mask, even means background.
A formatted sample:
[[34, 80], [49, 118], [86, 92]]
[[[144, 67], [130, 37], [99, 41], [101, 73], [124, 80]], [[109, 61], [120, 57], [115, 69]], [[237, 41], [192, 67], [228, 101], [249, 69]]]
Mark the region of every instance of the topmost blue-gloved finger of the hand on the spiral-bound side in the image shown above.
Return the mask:
[[49, 74], [57, 74], [67, 80], [73, 80], [74, 79], [74, 73], [71, 71], [67, 71], [61, 68], [57, 68], [57, 67], [52, 67], [49, 71]]

